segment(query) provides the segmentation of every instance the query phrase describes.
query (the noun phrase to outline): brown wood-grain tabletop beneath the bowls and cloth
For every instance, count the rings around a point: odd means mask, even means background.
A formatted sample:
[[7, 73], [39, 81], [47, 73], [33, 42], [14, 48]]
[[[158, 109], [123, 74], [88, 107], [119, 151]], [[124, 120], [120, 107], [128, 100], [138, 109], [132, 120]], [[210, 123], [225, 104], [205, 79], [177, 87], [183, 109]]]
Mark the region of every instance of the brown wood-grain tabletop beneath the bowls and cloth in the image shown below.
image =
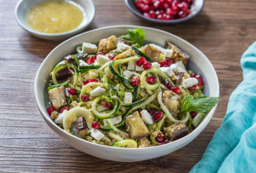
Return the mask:
[[96, 15], [86, 31], [131, 24], [172, 32], [201, 50], [219, 77], [220, 102], [203, 132], [178, 151], [135, 163], [79, 152], [46, 125], [35, 103], [34, 79], [62, 41], [42, 40], [23, 30], [14, 19], [17, 2], [0, 0], [0, 172], [188, 172], [195, 166], [221, 125], [231, 92], [243, 80], [239, 60], [256, 40], [255, 0], [206, 0], [195, 19], [180, 24], [143, 21], [123, 0], [93, 0]]

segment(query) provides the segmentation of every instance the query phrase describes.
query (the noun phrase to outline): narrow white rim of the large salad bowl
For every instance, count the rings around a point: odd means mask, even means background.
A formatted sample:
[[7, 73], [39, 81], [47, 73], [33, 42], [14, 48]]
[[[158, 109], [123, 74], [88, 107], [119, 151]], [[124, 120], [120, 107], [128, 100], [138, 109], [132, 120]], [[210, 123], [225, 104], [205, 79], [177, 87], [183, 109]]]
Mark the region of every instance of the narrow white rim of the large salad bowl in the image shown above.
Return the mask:
[[[58, 48], [59, 48], [60, 46], [62, 46], [63, 44], [68, 43], [70, 40], [75, 39], [75, 38], [80, 37], [80, 36], [85, 35], [85, 34], [89, 34], [89, 33], [94, 32], [94, 31], [105, 30], [105, 29], [109, 29], [109, 28], [129, 28], [129, 27], [136, 27], [136, 28], [142, 28], [142, 29], [144, 28], [144, 29], [149, 29], [149, 30], [155, 30], [155, 31], [159, 31], [159, 32], [164, 32], [165, 34], [169, 34], [169, 35], [171, 35], [172, 37], [181, 39], [182, 42], [185, 42], [185, 43], [189, 44], [189, 45], [190, 45], [191, 47], [193, 47], [195, 50], [199, 51], [198, 48], [196, 48], [194, 45], [188, 43], [186, 40], [184, 40], [184, 39], [182, 39], [182, 38], [180, 38], [180, 37], [178, 37], [178, 36], [175, 36], [175, 35], [171, 34], [170, 32], [166, 32], [166, 31], [163, 31], [163, 30], [160, 30], [160, 29], [155, 29], [155, 28], [150, 28], [150, 27], [142, 27], [142, 26], [118, 25], [118, 26], [103, 27], [103, 28], [98, 28], [98, 29], [93, 29], [93, 30], [87, 31], [87, 32], [83, 32], [82, 34], [79, 34], [79, 35], [77, 35], [77, 36], [74, 36], [74, 37], [72, 37], [72, 38], [69, 38], [69, 39], [67, 39], [65, 42], [62, 42], [62, 43], [59, 44], [57, 47], [55, 47], [55, 48], [46, 56], [46, 58], [44, 59], [44, 61], [42, 62], [42, 64], [40, 65], [40, 67], [39, 67], [39, 69], [38, 69], [38, 71], [37, 71], [37, 73], [36, 73], [35, 83], [34, 83], [34, 92], [35, 92], [35, 98], [36, 98], [36, 105], [37, 105], [37, 108], [38, 108], [39, 112], [41, 113], [41, 116], [43, 117], [44, 121], [47, 121], [47, 122], [51, 123], [55, 128], [57, 128], [59, 131], [61, 131], [61, 133], [66, 133], [66, 135], [69, 135], [69, 136], [70, 136], [71, 138], [73, 138], [74, 140], [80, 140], [80, 141], [83, 141], [83, 142], [85, 142], [85, 143], [89, 143], [89, 144], [93, 144], [93, 145], [99, 145], [99, 144], [95, 144], [95, 143], [86, 141], [86, 140], [84, 140], [84, 139], [81, 139], [81, 138], [79, 138], [79, 137], [75, 137], [74, 135], [71, 135], [71, 134], [67, 133], [65, 130], [60, 129], [60, 127], [57, 126], [57, 124], [54, 123], [54, 121], [49, 121], [49, 120], [46, 118], [47, 116], [49, 117], [49, 115], [46, 114], [46, 113], [44, 113], [44, 112], [42, 111], [42, 110], [45, 110], [44, 106], [38, 104], [38, 103], [39, 103], [39, 101], [38, 101], [38, 100], [39, 100], [39, 98], [38, 98], [38, 93], [39, 93], [39, 92], [38, 92], [38, 90], [37, 90], [37, 88], [38, 88], [37, 83], [38, 83], [38, 79], [39, 79], [39, 72], [41, 72], [41, 70], [43, 69], [43, 67], [44, 67], [44, 65], [45, 65], [45, 63], [46, 63], [46, 59], [49, 58], [50, 54], [51, 54], [52, 52], [54, 52], [55, 50], [58, 50]], [[199, 52], [202, 53], [201, 51], [199, 51]], [[202, 55], [205, 56], [203, 53], [202, 53]], [[205, 59], [206, 59], [206, 61], [209, 61], [209, 65], [210, 65], [209, 68], [211, 68], [211, 70], [213, 70], [213, 74], [214, 74], [215, 78], [216, 78], [217, 81], [218, 81], [218, 82], [217, 82], [217, 93], [216, 93], [215, 96], [216, 96], [216, 97], [219, 97], [219, 94], [220, 94], [220, 87], [219, 87], [219, 79], [218, 79], [217, 73], [216, 73], [216, 71], [215, 71], [215, 69], [214, 69], [212, 63], [210, 62], [210, 60], [209, 60], [206, 56], [205, 56]], [[218, 104], [217, 104], [217, 105], [218, 105]], [[173, 141], [173, 142], [171, 142], [171, 143], [169, 143], [169, 144], [157, 145], [157, 146], [154, 146], [154, 147], [161, 147], [161, 146], [166, 146], [166, 145], [172, 145], [173, 143], [178, 143], [178, 142], [181, 142], [181, 141], [185, 141], [185, 140], [187, 139], [187, 137], [190, 136], [190, 134], [195, 133], [196, 131], [198, 131], [199, 129], [201, 129], [201, 127], [203, 126], [204, 123], [206, 123], [209, 119], [211, 120], [211, 118], [212, 118], [212, 116], [213, 116], [213, 114], [214, 114], [214, 112], [215, 112], [215, 109], [217, 108], [217, 105], [215, 105], [215, 106], [212, 108], [212, 110], [209, 112], [208, 116], [205, 117], [205, 119], [203, 120], [203, 122], [200, 123], [200, 124], [196, 127], [196, 129], [193, 130], [191, 133], [189, 133], [187, 136], [182, 137], [182, 138], [178, 139], [177, 141]], [[209, 121], [210, 121], [210, 120], [209, 120]], [[46, 122], [46, 123], [47, 123], [47, 122]], [[48, 125], [48, 126], [49, 126], [49, 125]], [[207, 125], [206, 125], [206, 126], [207, 126]], [[49, 127], [50, 127], [50, 126], [49, 126]], [[50, 127], [50, 128], [51, 128], [51, 127]], [[54, 130], [53, 130], [53, 131], [54, 131]], [[55, 131], [54, 131], [54, 132], [55, 132]], [[193, 139], [193, 140], [194, 140], [194, 139]], [[109, 148], [109, 149], [113, 149], [113, 147], [107, 146], [107, 145], [99, 145], [99, 146], [107, 147], [107, 148]], [[115, 147], [115, 149], [117, 149], [117, 150], [147, 150], [148, 148], [149, 148], [149, 147], [145, 147], [145, 148]]]

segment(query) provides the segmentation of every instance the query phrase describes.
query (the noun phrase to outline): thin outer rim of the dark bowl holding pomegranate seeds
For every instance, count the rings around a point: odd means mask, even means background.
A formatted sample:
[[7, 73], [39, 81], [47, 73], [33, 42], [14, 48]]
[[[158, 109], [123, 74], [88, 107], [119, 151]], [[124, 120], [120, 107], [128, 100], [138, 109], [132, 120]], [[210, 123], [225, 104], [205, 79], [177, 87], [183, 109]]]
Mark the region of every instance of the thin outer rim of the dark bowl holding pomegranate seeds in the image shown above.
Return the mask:
[[138, 17], [142, 18], [142, 19], [146, 19], [148, 21], [151, 21], [151, 22], [156, 22], [156, 23], [181, 23], [181, 22], [185, 22], [187, 20], [190, 20], [190, 19], [193, 19], [195, 18], [203, 9], [204, 7], [204, 0], [203, 1], [203, 5], [201, 7], [201, 9], [198, 10], [197, 13], [195, 14], [191, 14], [185, 18], [182, 18], [182, 19], [173, 19], [173, 20], [159, 20], [159, 19], [153, 19], [153, 18], [147, 18], [145, 17], [144, 15], [142, 15], [141, 13], [138, 13], [137, 11], [135, 11], [133, 9], [133, 7], [128, 3], [129, 0], [124, 0], [125, 1], [125, 4], [127, 6], [127, 8], [135, 15], [137, 15]]

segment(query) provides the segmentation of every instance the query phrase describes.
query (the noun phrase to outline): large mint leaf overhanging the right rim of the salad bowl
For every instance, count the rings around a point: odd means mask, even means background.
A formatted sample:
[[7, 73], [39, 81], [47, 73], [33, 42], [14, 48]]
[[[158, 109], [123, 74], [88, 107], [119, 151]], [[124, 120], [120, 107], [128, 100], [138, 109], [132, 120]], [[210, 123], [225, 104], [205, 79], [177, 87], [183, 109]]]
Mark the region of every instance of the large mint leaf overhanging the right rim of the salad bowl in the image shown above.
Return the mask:
[[219, 102], [219, 97], [197, 96], [191, 102], [189, 108], [185, 112], [195, 111], [198, 113], [206, 112], [212, 109]]

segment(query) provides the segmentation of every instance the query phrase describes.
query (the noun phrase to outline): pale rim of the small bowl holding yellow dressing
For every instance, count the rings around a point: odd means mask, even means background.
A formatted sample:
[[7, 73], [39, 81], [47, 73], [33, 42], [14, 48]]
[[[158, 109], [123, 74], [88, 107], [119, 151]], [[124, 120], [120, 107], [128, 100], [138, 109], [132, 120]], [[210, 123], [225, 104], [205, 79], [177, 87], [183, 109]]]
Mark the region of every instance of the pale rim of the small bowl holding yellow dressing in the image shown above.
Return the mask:
[[[57, 34], [47, 34], [47, 33], [44, 33], [44, 32], [39, 32], [39, 31], [36, 31], [34, 29], [31, 29], [29, 27], [26, 27], [25, 24], [23, 24], [20, 20], [19, 20], [19, 17], [18, 17], [18, 9], [19, 9], [19, 6], [20, 4], [23, 2], [23, 1], [26, 1], [26, 0], [19, 0], [19, 2], [16, 4], [15, 6], [15, 12], [14, 12], [14, 15], [15, 15], [15, 19], [16, 21], [18, 22], [19, 26], [21, 26], [23, 29], [25, 29], [26, 31], [28, 32], [31, 32], [35, 35], [40, 35], [40, 36], [47, 36], [47, 37], [51, 37], [51, 36], [66, 36], [66, 35], [69, 35], [69, 34], [73, 34], [75, 32], [79, 32], [83, 29], [85, 29], [87, 26], [89, 26], [91, 24], [91, 22], [93, 21], [94, 17], [95, 17], [95, 6], [92, 2], [92, 0], [86, 0], [88, 1], [91, 5], [92, 5], [92, 11], [93, 11], [93, 15], [91, 16], [90, 20], [86, 23], [84, 23], [81, 27], [77, 27], [73, 30], [70, 30], [70, 31], [67, 31], [67, 32], [61, 32], [61, 33], [57, 33]], [[49, 0], [43, 0], [43, 1], [49, 1]], [[70, 0], [72, 1], [72, 0]]]

